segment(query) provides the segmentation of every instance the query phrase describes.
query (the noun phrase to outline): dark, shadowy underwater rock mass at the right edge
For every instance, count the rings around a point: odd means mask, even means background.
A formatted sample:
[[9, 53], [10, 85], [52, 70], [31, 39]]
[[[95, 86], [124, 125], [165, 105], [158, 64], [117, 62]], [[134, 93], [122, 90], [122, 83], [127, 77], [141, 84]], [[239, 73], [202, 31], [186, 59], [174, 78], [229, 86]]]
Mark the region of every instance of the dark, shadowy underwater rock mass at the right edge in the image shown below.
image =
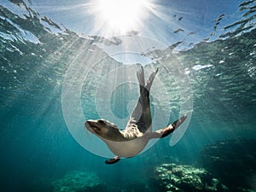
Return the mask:
[[201, 151], [201, 166], [231, 189], [253, 187], [256, 174], [256, 141], [234, 139], [208, 145]]

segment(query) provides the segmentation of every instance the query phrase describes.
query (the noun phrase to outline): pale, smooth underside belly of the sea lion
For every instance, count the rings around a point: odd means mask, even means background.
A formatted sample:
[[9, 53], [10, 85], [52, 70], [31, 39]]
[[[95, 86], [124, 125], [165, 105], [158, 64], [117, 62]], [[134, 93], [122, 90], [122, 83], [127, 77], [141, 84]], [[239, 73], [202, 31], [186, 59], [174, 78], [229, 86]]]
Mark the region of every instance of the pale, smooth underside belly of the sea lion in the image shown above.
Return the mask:
[[113, 142], [109, 140], [103, 140], [113, 154], [119, 157], [133, 157], [139, 154], [148, 143], [147, 137], [137, 137], [127, 142]]

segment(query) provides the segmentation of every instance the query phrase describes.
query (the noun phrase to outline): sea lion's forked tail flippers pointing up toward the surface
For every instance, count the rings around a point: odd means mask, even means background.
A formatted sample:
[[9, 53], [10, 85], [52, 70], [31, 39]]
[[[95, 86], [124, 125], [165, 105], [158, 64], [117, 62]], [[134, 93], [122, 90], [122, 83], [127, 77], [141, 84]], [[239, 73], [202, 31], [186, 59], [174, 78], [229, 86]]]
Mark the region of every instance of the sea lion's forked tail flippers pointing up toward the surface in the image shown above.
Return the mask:
[[149, 90], [151, 88], [151, 85], [154, 81], [154, 77], [156, 73], [158, 72], [158, 68], [151, 73], [150, 77], [148, 78], [147, 84], [145, 84], [145, 77], [144, 77], [144, 70], [143, 67], [141, 66], [140, 70], [137, 72], [137, 79], [140, 83], [140, 93], [141, 95], [149, 95]]

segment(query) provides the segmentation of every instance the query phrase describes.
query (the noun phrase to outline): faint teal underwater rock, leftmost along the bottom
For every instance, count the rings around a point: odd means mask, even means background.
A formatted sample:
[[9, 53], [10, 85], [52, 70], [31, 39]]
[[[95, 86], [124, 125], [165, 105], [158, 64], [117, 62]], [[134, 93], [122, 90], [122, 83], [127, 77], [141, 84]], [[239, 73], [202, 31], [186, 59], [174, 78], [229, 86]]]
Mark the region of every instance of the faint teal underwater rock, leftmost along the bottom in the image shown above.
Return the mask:
[[68, 172], [61, 179], [51, 183], [52, 192], [99, 191], [102, 181], [94, 172]]

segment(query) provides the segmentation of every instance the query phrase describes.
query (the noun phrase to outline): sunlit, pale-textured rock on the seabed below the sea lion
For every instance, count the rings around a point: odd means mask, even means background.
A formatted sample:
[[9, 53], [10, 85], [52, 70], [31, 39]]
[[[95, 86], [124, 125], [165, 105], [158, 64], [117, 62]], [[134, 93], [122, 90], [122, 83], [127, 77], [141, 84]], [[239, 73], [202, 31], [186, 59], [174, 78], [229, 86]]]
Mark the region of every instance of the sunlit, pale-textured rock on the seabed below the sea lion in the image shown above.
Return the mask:
[[163, 164], [154, 170], [155, 178], [163, 191], [199, 192], [230, 191], [205, 169], [194, 166]]

